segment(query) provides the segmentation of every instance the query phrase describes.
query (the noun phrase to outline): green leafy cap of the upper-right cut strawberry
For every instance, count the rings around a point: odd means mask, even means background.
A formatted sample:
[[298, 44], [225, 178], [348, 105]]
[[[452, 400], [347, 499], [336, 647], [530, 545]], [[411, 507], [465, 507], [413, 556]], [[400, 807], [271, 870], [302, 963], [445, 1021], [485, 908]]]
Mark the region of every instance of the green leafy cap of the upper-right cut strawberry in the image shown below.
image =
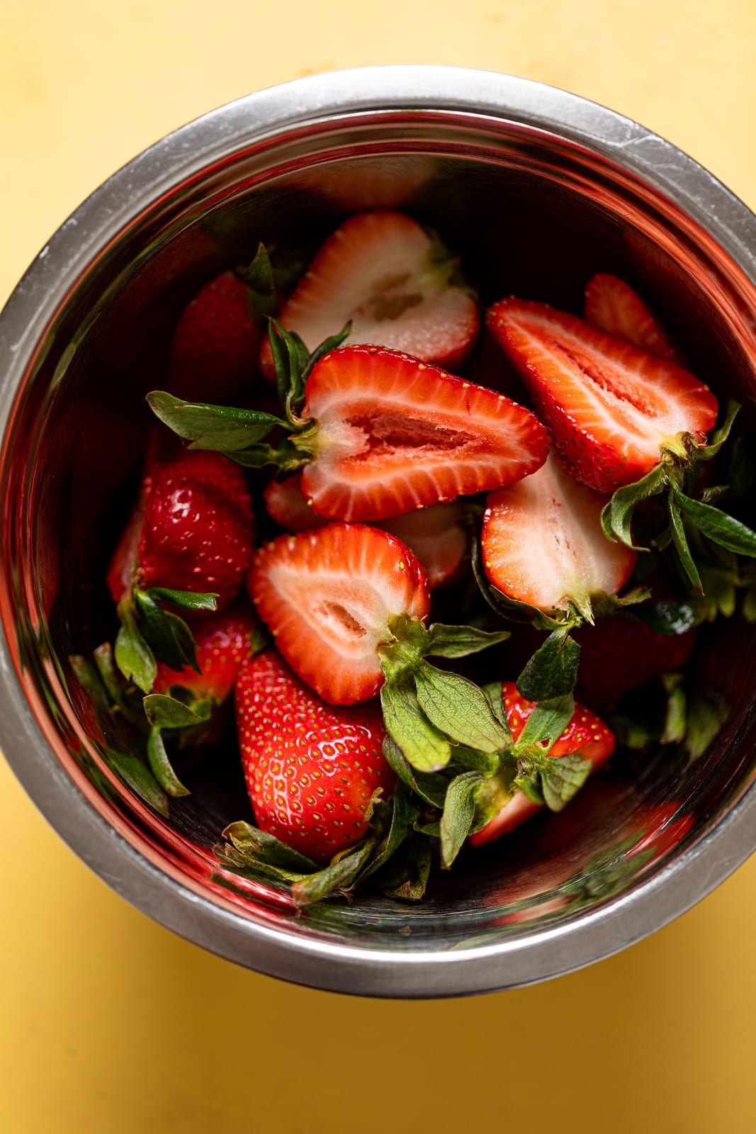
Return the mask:
[[756, 532], [710, 502], [731, 491], [730, 485], [710, 486], [699, 493], [700, 498], [690, 494], [696, 492], [700, 465], [716, 457], [728, 440], [739, 408], [734, 401], [729, 404], [724, 422], [707, 445], [680, 434], [676, 443], [668, 446], [660, 464], [635, 484], [618, 489], [602, 513], [602, 526], [609, 540], [647, 551], [645, 547], [636, 547], [632, 540], [635, 508], [642, 500], [664, 494], [666, 526], [654, 533], [653, 543], [660, 549], [668, 544], [674, 548], [682, 572], [702, 594], [705, 585], [690, 547], [693, 533], [699, 533], [727, 551], [756, 557]]

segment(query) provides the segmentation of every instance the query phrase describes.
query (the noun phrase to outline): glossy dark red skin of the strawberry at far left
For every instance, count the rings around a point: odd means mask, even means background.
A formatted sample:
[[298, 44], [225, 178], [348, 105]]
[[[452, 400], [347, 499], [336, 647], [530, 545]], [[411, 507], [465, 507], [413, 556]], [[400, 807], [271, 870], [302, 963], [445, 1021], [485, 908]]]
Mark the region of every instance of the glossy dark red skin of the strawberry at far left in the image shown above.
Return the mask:
[[143, 484], [139, 586], [214, 592], [218, 609], [244, 586], [254, 513], [244, 472], [218, 452], [185, 450], [152, 466]]

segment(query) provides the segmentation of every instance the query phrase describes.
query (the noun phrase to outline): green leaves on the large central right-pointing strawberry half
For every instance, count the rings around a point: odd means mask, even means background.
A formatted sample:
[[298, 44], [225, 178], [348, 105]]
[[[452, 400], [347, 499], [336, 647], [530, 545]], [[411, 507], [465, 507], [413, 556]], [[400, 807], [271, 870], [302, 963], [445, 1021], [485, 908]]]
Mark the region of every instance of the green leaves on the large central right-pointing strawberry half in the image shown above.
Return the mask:
[[[307, 378], [321, 358], [343, 342], [350, 325], [347, 323], [311, 354], [298, 335], [287, 331], [274, 319], [269, 320], [269, 341], [283, 416], [184, 401], [165, 390], [153, 390], [147, 395], [147, 403], [163, 424], [188, 442], [189, 449], [211, 449], [247, 468], [274, 465], [281, 472], [294, 473], [317, 456], [317, 422], [301, 416]], [[283, 430], [286, 435], [271, 445], [265, 439], [274, 430]]]

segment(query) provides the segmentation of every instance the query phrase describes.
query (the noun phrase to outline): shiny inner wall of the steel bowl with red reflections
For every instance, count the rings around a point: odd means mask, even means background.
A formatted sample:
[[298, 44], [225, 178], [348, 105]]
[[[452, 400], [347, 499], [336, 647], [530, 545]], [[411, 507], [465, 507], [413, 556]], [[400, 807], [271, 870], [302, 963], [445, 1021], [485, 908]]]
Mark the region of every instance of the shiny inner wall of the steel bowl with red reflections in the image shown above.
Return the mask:
[[[252, 819], [232, 730], [182, 769], [186, 799], [158, 813], [134, 742], [97, 713], [68, 661], [113, 640], [107, 564], [134, 498], [177, 319], [198, 287], [258, 240], [312, 252], [346, 215], [400, 208], [435, 228], [487, 304], [517, 294], [579, 313], [587, 279], [614, 272], [666, 323], [691, 369], [753, 397], [754, 289], [672, 201], [606, 158], [516, 121], [461, 112], [324, 119], [241, 146], [152, 202], [97, 251], [29, 361], [8, 434], [5, 617], [51, 759], [91, 806], [169, 877], [257, 924], [355, 948], [491, 946], [574, 923], [628, 895], [700, 840], [755, 765], [754, 633], [704, 627], [693, 696], [727, 722], [695, 762], [665, 748], [617, 760], [560, 815], [537, 818], [436, 873], [419, 906], [377, 897], [295, 917], [286, 897], [222, 870], [223, 827]], [[335, 330], [335, 328], [334, 328]], [[267, 396], [262, 380], [250, 398]], [[257, 488], [260, 482], [256, 481]], [[507, 652], [489, 679], [513, 677]], [[494, 671], [495, 670], [495, 671]]]

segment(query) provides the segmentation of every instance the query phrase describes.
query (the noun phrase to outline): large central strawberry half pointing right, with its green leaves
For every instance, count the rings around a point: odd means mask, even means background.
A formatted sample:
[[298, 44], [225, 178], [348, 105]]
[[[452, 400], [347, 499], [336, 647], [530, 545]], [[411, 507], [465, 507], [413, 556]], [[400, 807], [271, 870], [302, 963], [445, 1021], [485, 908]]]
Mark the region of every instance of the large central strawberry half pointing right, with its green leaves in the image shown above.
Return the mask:
[[547, 435], [528, 409], [430, 363], [383, 347], [322, 344], [272, 330], [289, 438], [260, 443], [271, 414], [193, 405], [153, 391], [155, 414], [196, 448], [240, 464], [304, 466], [301, 488], [328, 519], [390, 519], [510, 484], [546, 459]]

